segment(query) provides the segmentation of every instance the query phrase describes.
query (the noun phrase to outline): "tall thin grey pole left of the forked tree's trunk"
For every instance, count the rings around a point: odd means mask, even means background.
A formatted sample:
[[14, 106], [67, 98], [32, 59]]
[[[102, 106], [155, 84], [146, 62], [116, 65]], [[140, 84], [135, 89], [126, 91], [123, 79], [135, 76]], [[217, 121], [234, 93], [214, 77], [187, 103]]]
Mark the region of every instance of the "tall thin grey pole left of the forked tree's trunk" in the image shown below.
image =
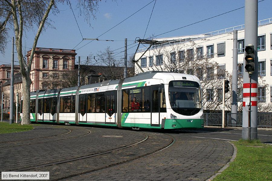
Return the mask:
[[14, 86], [13, 86], [13, 74], [14, 74], [14, 37], [12, 37], [12, 53], [11, 53], [11, 72], [10, 72], [10, 93], [9, 93], [9, 124], [13, 121], [13, 103], [14, 103]]

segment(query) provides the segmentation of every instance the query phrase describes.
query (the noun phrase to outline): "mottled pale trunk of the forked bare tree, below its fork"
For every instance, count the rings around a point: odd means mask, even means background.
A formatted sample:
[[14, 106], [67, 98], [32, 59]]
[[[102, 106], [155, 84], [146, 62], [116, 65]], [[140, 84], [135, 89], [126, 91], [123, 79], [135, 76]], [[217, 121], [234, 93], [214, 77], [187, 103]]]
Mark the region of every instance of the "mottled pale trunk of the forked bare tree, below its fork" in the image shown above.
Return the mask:
[[29, 73], [26, 71], [26, 77], [22, 75], [23, 80], [23, 118], [21, 125], [30, 123], [30, 84], [31, 79]]

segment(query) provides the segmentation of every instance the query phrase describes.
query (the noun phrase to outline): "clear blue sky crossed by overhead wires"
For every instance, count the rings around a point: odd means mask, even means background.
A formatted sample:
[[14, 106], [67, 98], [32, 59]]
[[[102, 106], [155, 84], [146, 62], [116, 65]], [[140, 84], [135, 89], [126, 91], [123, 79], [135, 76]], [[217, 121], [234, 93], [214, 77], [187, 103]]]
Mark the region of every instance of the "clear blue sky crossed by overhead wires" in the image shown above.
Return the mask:
[[[96, 19], [91, 21], [90, 27], [82, 16], [78, 16], [76, 9], [76, 1], [70, 0], [73, 11], [75, 12], [79, 28], [83, 38], [96, 38], [102, 33], [111, 29], [121, 21], [125, 20], [131, 14], [143, 8], [152, 0], [116, 0], [116, 2], [102, 0], [99, 3], [99, 10], [96, 12]], [[84, 40], [75, 47], [81, 40], [81, 34], [77, 27], [75, 18], [69, 6], [60, 5], [61, 10], [59, 14], [50, 14], [49, 18], [54, 21], [54, 29], [46, 29], [41, 35], [37, 43], [37, 47], [44, 48], [60, 48], [60, 49], [76, 49], [76, 62], [78, 56], [81, 56], [81, 61], [86, 60], [89, 54], [97, 55], [98, 51], [104, 51], [109, 46], [112, 50], [124, 46], [124, 39], [128, 39], [128, 45], [134, 43], [136, 37], [147, 38], [153, 35], [159, 35], [176, 28], [204, 20], [215, 15], [219, 15], [244, 6], [244, 0], [157, 0], [141, 9], [139, 12], [108, 31], [99, 40], [114, 40], [114, 41], [92, 41]], [[147, 28], [147, 23], [150, 18], [152, 8], [154, 10]], [[272, 1], [264, 0], [258, 3], [258, 20], [263, 20], [272, 17], [271, 14]], [[182, 35], [192, 35], [207, 33], [215, 30], [221, 30], [228, 27], [244, 24], [244, 8], [223, 14], [212, 19], [181, 28], [158, 36], [161, 37], [174, 37]], [[144, 37], [145, 30], [146, 35]], [[14, 32], [10, 32], [10, 40]], [[23, 40], [23, 45], [32, 47], [36, 30], [26, 32]], [[81, 46], [89, 43], [88, 45], [80, 48]], [[133, 44], [128, 46], [128, 54], [135, 52], [137, 46]], [[135, 46], [135, 47], [132, 47]], [[29, 50], [27, 48], [27, 50]], [[114, 56], [124, 51], [124, 48], [114, 51]], [[123, 58], [124, 52], [116, 55], [117, 58]], [[118, 57], [122, 56], [122, 57]], [[15, 53], [15, 61], [18, 61], [17, 54]], [[0, 54], [0, 63], [11, 62], [11, 42], [8, 43], [6, 53], [3, 56]], [[15, 62], [18, 65], [18, 62]]]

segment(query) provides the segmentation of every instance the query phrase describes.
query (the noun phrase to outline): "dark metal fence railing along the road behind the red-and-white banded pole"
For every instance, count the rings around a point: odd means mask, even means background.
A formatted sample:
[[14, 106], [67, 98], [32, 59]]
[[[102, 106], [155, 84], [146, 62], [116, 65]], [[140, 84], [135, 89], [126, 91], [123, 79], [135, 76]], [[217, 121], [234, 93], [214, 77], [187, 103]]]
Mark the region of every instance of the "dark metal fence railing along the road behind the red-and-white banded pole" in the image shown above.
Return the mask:
[[[222, 113], [204, 113], [204, 125], [222, 126]], [[225, 125], [227, 127], [242, 127], [243, 113], [227, 113]], [[272, 113], [257, 113], [258, 128], [272, 128]]]

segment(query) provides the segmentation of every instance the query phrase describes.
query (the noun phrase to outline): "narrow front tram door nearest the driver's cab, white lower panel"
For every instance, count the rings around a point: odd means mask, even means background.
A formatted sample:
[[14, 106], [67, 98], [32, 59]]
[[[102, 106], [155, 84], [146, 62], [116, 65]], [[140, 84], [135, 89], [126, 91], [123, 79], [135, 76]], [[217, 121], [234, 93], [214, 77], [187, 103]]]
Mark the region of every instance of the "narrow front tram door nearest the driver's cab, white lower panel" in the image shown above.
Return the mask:
[[152, 87], [151, 126], [160, 126], [160, 96], [158, 87]]

